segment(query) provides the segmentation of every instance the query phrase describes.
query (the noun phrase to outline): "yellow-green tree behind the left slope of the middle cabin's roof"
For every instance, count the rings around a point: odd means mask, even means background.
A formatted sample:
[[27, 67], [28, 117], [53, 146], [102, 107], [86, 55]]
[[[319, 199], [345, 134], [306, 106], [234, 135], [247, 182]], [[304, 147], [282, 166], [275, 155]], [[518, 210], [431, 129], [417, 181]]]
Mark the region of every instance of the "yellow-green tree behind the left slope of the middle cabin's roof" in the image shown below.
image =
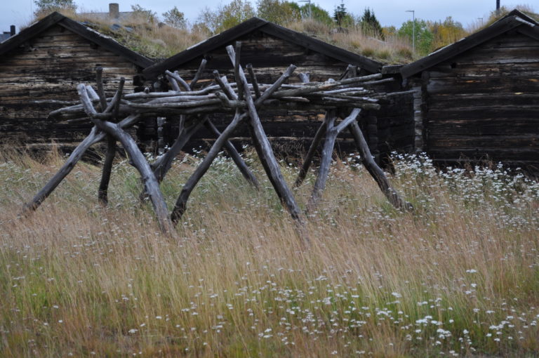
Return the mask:
[[199, 22], [199, 25], [206, 27], [212, 34], [217, 34], [252, 18], [254, 15], [255, 10], [250, 2], [232, 0], [230, 4], [220, 5], [214, 11], [208, 7], [204, 8], [197, 22]]

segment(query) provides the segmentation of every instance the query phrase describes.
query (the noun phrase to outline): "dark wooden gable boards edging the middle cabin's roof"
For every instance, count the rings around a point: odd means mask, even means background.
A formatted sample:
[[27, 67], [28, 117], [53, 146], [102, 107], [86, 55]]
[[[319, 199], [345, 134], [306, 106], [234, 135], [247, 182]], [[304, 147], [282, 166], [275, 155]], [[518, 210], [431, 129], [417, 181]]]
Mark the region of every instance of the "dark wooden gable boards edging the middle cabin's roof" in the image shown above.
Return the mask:
[[285, 41], [291, 41], [294, 44], [303, 46], [309, 50], [317, 51], [330, 58], [335, 58], [342, 62], [350, 63], [352, 65], [358, 65], [361, 68], [366, 69], [368, 72], [377, 73], [382, 68], [382, 63], [371, 60], [356, 53], [346, 51], [344, 48], [333, 46], [324, 41], [314, 39], [300, 32], [295, 32], [291, 29], [276, 25], [272, 22], [262, 20], [260, 18], [251, 18], [241, 24], [227, 29], [220, 34], [217, 34], [205, 41], [200, 42], [194, 46], [187, 48], [187, 50], [177, 53], [166, 60], [156, 63], [144, 70], [144, 73], [150, 76], [155, 76], [165, 72], [167, 69], [180, 67], [182, 64], [193, 60], [201, 55], [205, 55], [209, 51], [213, 51], [217, 48], [222, 48], [230, 44], [232, 41], [244, 36], [250, 32], [260, 31], [271, 36], [283, 39]]

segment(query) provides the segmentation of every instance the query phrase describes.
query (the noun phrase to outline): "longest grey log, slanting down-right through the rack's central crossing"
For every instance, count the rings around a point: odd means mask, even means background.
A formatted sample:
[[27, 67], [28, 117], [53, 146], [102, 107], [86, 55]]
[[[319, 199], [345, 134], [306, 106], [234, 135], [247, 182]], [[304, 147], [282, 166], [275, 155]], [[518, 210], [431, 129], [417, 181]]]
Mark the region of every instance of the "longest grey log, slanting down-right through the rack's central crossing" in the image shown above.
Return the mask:
[[[234, 64], [236, 62], [234, 48], [232, 48], [232, 46], [227, 46], [227, 52], [229, 53], [229, 58], [232, 61], [232, 64]], [[236, 82], [242, 82], [244, 84], [244, 87], [248, 88], [248, 82], [245, 77], [244, 70], [241, 69], [241, 65], [237, 66], [237, 72], [238, 77], [236, 78]], [[261, 100], [262, 98], [263, 95], [258, 98], [258, 100]], [[258, 113], [256, 112], [253, 98], [251, 98], [250, 95], [246, 95], [245, 100], [247, 102], [250, 123], [253, 126], [254, 130], [254, 137], [256, 138], [256, 140], [258, 140], [261, 147], [262, 155], [260, 157], [260, 161], [265, 162], [266, 166], [268, 167], [269, 170], [267, 170], [266, 173], [270, 178], [272, 178], [272, 182], [274, 183], [274, 189], [277, 192], [277, 195], [279, 196], [281, 201], [285, 204], [292, 218], [294, 220], [297, 220], [298, 222], [302, 222], [302, 218], [300, 216], [300, 208], [295, 202], [292, 191], [284, 180], [277, 159], [275, 159], [272, 146], [270, 145], [270, 141], [267, 139], [264, 128], [262, 128], [262, 124], [260, 123]]]

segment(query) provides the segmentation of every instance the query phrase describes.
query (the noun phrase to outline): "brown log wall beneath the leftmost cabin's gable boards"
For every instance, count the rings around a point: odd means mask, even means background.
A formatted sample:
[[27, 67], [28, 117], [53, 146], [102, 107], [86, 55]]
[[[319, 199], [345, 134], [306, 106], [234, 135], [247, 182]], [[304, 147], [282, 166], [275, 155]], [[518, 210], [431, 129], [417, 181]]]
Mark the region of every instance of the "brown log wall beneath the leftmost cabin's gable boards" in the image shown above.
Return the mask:
[[74, 145], [91, 125], [47, 119], [64, 105], [33, 104], [35, 100], [76, 100], [76, 85], [95, 84], [95, 67], [104, 68], [105, 90], [113, 95], [120, 77], [133, 91], [140, 71], [131, 62], [55, 25], [24, 48], [0, 58], [0, 144], [46, 147], [51, 142]]

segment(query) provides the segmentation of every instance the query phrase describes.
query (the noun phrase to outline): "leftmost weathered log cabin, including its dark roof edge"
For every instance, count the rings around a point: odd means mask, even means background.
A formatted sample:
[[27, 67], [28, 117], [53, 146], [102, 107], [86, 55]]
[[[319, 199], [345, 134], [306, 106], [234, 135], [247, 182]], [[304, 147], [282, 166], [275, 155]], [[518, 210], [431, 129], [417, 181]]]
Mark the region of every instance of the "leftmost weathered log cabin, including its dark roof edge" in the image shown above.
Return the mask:
[[76, 145], [89, 122], [51, 120], [48, 113], [78, 100], [77, 84], [94, 85], [96, 67], [103, 68], [105, 91], [113, 95], [121, 77], [125, 91], [135, 91], [142, 69], [153, 63], [81, 22], [46, 16], [0, 44], [0, 145]]

